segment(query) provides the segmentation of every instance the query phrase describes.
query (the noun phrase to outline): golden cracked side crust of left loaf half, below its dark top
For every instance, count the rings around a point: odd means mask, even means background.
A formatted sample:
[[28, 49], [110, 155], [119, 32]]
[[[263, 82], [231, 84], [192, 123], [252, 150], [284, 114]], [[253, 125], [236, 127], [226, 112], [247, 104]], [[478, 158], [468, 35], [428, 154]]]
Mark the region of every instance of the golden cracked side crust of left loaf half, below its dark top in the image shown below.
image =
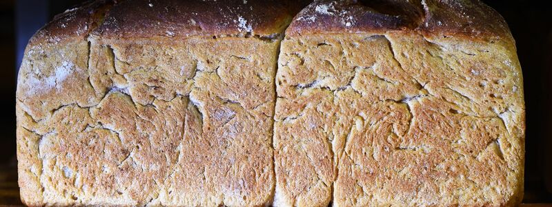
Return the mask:
[[[86, 41], [78, 44], [86, 50]], [[28, 203], [270, 203], [279, 41], [91, 39], [86, 75], [72, 63], [87, 57], [58, 66], [57, 58], [79, 53], [63, 46], [51, 49], [65, 55], [28, 58], [54, 87], [18, 91], [29, 94], [17, 102], [19, 182]], [[22, 86], [34, 78], [31, 69], [21, 68]]]

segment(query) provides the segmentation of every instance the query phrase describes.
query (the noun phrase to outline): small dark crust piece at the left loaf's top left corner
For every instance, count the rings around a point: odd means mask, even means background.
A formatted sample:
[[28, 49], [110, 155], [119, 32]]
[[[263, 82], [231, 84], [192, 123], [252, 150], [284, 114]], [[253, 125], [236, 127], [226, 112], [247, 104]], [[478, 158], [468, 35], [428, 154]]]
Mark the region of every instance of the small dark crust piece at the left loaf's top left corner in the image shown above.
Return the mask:
[[57, 42], [74, 38], [85, 39], [112, 4], [113, 2], [110, 0], [86, 1], [76, 8], [57, 14], [50, 23], [34, 34], [30, 43]]

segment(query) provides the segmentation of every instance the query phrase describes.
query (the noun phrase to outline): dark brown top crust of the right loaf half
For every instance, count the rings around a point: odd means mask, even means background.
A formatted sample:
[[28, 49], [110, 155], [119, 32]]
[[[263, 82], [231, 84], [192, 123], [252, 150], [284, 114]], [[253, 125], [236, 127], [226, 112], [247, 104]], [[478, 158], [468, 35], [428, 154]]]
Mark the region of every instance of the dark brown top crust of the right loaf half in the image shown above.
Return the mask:
[[511, 37], [502, 16], [479, 0], [315, 1], [299, 12], [286, 35], [408, 29]]

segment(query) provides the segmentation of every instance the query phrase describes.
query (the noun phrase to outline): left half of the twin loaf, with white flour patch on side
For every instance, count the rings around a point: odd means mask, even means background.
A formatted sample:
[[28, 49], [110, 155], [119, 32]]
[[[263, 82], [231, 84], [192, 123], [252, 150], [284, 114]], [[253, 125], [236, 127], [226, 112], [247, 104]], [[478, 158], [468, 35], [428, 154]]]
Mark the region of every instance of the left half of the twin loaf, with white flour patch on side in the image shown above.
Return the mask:
[[98, 1], [57, 17], [19, 73], [23, 202], [269, 204], [284, 3]]

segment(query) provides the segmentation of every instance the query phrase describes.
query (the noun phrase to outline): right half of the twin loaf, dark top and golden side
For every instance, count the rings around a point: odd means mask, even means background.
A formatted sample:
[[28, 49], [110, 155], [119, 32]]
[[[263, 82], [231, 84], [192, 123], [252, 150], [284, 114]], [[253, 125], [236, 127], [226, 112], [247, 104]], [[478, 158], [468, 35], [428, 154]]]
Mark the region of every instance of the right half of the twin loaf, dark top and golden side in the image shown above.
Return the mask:
[[276, 204], [522, 199], [522, 73], [479, 1], [312, 3], [286, 31], [276, 83]]

